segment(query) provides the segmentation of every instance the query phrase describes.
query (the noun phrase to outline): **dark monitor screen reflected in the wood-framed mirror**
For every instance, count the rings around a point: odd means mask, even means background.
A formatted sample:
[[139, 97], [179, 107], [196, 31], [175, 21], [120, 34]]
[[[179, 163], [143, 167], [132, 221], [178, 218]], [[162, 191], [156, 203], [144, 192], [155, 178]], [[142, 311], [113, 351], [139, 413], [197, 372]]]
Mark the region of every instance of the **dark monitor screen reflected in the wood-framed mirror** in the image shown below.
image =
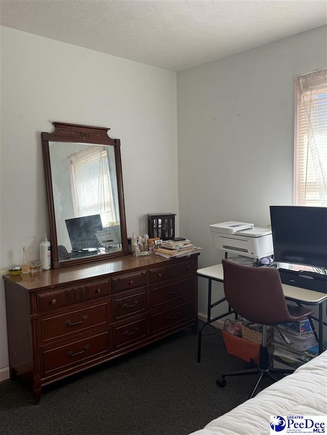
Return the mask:
[[96, 236], [96, 232], [102, 230], [100, 215], [65, 219], [65, 222], [73, 251], [101, 246]]

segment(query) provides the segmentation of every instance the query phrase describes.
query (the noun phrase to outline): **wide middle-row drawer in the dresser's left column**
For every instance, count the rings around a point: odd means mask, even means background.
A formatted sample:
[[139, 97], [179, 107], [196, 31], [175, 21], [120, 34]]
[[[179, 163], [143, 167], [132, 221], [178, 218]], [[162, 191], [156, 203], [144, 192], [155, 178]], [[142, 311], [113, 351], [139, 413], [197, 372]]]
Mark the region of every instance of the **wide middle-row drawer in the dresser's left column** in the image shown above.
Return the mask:
[[38, 322], [41, 342], [65, 338], [90, 328], [105, 328], [109, 323], [109, 304], [104, 302], [95, 306], [40, 317]]

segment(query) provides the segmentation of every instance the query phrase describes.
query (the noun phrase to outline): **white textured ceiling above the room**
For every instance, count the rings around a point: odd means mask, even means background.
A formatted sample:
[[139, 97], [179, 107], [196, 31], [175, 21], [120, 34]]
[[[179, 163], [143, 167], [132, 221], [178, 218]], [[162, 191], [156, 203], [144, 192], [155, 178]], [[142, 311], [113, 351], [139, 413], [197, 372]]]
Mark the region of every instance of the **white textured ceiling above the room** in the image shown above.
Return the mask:
[[327, 22], [325, 0], [1, 0], [1, 24], [180, 71]]

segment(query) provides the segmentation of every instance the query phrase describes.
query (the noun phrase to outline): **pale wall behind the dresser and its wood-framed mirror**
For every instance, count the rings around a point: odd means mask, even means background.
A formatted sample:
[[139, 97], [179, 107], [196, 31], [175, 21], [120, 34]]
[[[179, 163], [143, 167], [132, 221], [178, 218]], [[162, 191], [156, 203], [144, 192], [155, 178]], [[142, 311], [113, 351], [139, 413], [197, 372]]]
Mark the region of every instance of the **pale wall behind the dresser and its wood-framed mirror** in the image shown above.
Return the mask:
[[[40, 133], [52, 121], [111, 127], [109, 136], [121, 139], [129, 236], [146, 231], [146, 213], [178, 217], [176, 73], [4, 27], [1, 43], [2, 273], [20, 263], [22, 246], [38, 258], [49, 234]], [[1, 380], [8, 353], [0, 282]]]

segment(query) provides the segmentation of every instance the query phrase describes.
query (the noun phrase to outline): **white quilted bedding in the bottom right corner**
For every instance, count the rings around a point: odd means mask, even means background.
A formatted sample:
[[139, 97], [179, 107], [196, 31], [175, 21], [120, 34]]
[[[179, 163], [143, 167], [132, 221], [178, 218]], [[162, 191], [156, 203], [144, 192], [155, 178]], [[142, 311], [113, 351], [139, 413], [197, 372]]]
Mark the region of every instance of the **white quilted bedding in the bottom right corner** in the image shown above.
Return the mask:
[[190, 435], [269, 435], [270, 416], [285, 415], [327, 415], [327, 351]]

